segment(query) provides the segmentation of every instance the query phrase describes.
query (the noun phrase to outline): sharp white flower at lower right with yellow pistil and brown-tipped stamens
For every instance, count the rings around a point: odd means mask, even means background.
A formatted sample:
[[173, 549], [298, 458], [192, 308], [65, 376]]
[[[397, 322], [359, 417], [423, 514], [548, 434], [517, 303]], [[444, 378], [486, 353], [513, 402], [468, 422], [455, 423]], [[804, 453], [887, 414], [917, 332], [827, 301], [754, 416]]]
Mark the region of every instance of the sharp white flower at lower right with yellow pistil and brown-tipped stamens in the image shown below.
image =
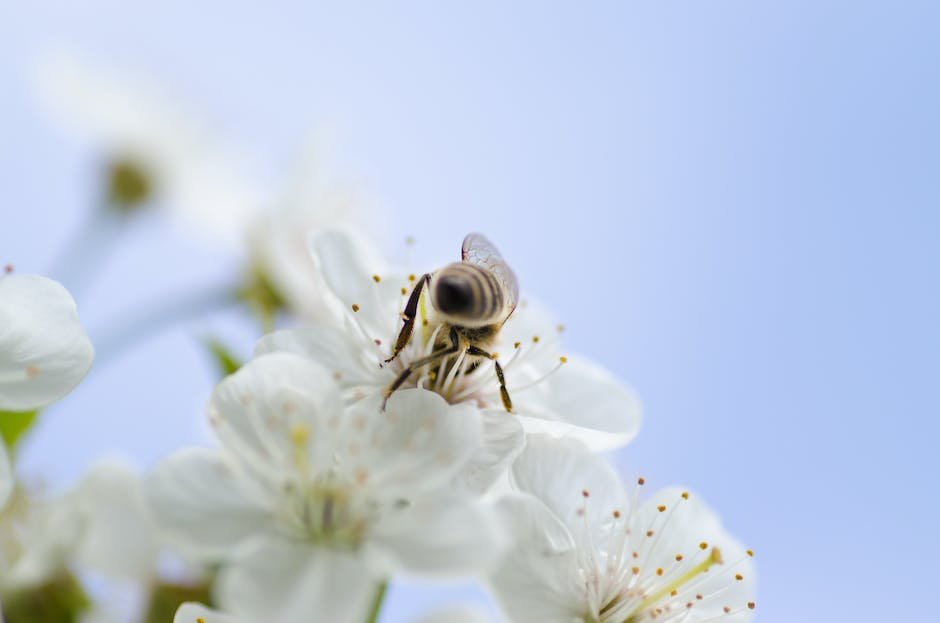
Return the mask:
[[[666, 489], [642, 503], [577, 442], [534, 436], [501, 500], [517, 547], [491, 578], [516, 623], [744, 621], [754, 570], [704, 504]], [[642, 479], [640, 481], [642, 484]]]

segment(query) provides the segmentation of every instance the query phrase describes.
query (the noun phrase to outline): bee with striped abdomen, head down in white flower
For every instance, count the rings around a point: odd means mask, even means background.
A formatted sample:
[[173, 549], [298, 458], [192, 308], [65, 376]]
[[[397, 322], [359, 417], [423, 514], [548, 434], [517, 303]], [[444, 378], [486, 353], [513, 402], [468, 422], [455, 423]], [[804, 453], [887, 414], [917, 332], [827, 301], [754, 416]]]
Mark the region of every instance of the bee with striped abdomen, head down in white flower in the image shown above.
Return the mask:
[[461, 258], [460, 262], [422, 275], [412, 289], [402, 312], [404, 324], [395, 341], [392, 356], [385, 363], [393, 361], [408, 345], [414, 331], [418, 303], [425, 288], [436, 320], [442, 324], [439, 335], [446, 337], [434, 344], [430, 355], [409, 362], [398, 378], [386, 388], [385, 400], [421, 366], [466, 351], [469, 357], [493, 361], [503, 407], [512, 412], [512, 400], [506, 389], [503, 368], [489, 348], [503, 323], [516, 308], [519, 282], [496, 246], [482, 234], [469, 234], [464, 238]]

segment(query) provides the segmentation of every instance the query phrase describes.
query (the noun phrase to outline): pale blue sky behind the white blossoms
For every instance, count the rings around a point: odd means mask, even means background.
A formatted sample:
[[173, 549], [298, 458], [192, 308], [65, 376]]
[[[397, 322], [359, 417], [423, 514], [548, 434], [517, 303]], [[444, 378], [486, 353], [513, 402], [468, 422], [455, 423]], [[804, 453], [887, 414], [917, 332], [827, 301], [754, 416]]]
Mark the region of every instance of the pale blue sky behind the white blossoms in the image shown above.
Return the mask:
[[[757, 620], [930, 618], [940, 5], [351, 4], [0, 0], [0, 262], [48, 271], [92, 207], [101, 154], [32, 87], [50, 50], [166, 85], [265, 174], [328, 127], [391, 251], [412, 235], [434, 267], [486, 232], [568, 348], [637, 389], [618, 465], [687, 485], [757, 551]], [[105, 335], [233, 262], [146, 216], [76, 293], [83, 321]], [[248, 326], [215, 314], [99, 361], [24, 469], [67, 483], [201, 443], [194, 337], [247, 348]], [[382, 620], [457, 598], [480, 596], [396, 586]]]

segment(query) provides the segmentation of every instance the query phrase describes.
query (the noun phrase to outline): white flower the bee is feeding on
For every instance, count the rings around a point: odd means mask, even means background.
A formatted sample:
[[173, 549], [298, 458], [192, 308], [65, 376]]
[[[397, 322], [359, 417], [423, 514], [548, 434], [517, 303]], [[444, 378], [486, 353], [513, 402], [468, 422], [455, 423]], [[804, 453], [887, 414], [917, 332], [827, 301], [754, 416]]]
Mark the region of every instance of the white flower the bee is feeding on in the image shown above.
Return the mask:
[[[428, 355], [440, 337], [440, 327], [430, 322], [422, 304], [408, 345], [390, 364], [380, 365], [396, 341], [402, 310], [418, 275], [389, 267], [348, 231], [317, 232], [311, 245], [315, 266], [328, 288], [323, 296], [332, 299], [334, 317], [265, 336], [255, 352], [290, 351], [314, 358], [336, 373], [347, 398], [381, 392], [409, 362]], [[422, 321], [429, 324], [422, 326]], [[500, 330], [493, 350], [501, 355], [513, 416], [503, 409], [489, 360], [471, 366], [469, 358], [460, 354], [449, 371], [443, 364], [433, 369], [426, 365], [403, 387], [424, 387], [452, 404], [483, 409], [488, 429], [491, 425], [504, 429], [499, 438], [506, 449], [517, 447], [513, 431], [517, 423], [532, 432], [578, 437], [597, 450], [627, 443], [639, 430], [635, 395], [598, 366], [562, 356], [559, 333], [560, 326], [547, 314], [524, 303]]]

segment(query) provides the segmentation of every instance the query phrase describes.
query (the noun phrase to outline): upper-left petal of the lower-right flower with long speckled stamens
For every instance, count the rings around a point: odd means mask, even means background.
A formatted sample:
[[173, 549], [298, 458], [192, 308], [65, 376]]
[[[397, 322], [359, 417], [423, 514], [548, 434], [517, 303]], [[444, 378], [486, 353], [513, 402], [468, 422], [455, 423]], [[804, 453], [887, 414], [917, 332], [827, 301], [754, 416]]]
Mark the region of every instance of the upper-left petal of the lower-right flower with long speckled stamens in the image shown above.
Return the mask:
[[519, 490], [540, 499], [579, 540], [588, 536], [585, 521], [594, 534], [609, 523], [613, 511], [629, 507], [610, 464], [573, 439], [530, 436], [513, 464], [512, 478]]

